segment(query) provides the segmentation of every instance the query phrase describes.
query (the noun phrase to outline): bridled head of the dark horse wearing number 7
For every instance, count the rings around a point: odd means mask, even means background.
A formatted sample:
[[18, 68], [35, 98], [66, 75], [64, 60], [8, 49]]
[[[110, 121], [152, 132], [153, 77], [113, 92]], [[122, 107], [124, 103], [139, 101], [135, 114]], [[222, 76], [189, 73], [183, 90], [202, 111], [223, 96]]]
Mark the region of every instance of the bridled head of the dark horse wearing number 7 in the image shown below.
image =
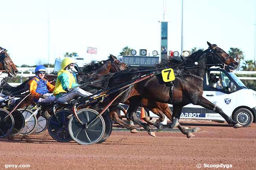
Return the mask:
[[213, 61], [213, 64], [221, 64], [225, 69], [236, 69], [238, 63], [230, 55], [228, 55], [228, 53], [219, 48], [216, 44], [211, 44], [210, 42], [207, 42], [207, 44], [210, 49], [209, 51], [213, 54], [212, 60], [215, 61]]

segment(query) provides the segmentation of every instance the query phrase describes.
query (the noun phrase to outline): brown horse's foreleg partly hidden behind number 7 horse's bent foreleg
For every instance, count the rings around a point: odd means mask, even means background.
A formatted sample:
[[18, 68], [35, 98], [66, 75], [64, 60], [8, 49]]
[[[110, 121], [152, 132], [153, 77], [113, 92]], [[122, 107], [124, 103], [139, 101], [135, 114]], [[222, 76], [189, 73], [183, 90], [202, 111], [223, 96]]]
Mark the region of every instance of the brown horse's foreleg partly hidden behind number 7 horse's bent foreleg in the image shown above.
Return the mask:
[[[165, 103], [157, 103], [157, 106], [158, 108], [165, 114], [165, 116], [167, 116], [170, 121], [172, 121], [172, 112], [168, 106], [168, 104], [165, 104]], [[180, 132], [182, 132], [184, 135], [187, 136], [187, 138], [190, 138], [190, 137], [194, 137], [195, 135], [193, 135], [193, 133], [191, 132], [188, 132], [186, 129], [184, 129], [180, 123], [178, 124], [178, 129], [180, 130]]]

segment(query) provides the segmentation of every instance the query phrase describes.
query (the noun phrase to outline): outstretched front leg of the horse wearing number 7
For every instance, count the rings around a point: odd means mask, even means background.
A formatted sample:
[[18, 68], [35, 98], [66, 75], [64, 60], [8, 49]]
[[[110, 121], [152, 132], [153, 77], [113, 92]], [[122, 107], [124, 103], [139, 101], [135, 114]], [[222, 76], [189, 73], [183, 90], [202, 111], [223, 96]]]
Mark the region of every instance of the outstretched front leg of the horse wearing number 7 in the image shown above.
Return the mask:
[[241, 127], [243, 127], [241, 124], [237, 123], [232, 118], [228, 117], [228, 115], [226, 115], [219, 106], [214, 105], [213, 103], [211, 103], [210, 101], [208, 101], [204, 97], [201, 97], [197, 104], [200, 105], [200, 106], [203, 106], [204, 108], [210, 109], [210, 110], [212, 110], [212, 111], [214, 111], [216, 113], [219, 113], [226, 120], [226, 122], [228, 124], [232, 124], [233, 125], [233, 128], [241, 128]]

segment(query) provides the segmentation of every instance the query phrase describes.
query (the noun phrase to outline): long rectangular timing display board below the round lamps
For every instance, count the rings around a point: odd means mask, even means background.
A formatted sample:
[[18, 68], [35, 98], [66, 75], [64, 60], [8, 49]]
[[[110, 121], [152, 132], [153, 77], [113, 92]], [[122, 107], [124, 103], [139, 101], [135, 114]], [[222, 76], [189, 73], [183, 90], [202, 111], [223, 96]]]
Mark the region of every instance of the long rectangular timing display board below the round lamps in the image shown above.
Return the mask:
[[159, 61], [159, 57], [146, 56], [123, 56], [122, 62], [128, 66], [154, 66]]

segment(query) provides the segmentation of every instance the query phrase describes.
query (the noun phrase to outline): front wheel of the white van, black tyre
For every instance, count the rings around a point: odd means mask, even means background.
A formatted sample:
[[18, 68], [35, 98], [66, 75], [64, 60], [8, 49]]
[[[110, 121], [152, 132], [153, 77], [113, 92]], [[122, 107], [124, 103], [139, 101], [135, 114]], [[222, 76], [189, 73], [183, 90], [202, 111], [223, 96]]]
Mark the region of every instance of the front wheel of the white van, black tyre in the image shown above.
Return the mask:
[[244, 127], [248, 127], [253, 121], [252, 112], [246, 108], [238, 109], [234, 114], [234, 121], [238, 122]]

